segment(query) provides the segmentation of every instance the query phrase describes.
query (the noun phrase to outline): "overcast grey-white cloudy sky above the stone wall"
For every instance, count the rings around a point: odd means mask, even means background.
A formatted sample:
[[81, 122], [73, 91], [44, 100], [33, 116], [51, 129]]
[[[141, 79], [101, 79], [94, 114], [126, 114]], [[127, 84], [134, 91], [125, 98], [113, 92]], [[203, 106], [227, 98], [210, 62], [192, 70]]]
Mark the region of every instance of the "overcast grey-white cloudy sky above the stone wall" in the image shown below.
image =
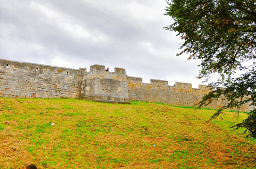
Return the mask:
[[100, 64], [128, 76], [203, 84], [198, 61], [163, 27], [165, 0], [0, 0], [0, 58], [66, 68]]

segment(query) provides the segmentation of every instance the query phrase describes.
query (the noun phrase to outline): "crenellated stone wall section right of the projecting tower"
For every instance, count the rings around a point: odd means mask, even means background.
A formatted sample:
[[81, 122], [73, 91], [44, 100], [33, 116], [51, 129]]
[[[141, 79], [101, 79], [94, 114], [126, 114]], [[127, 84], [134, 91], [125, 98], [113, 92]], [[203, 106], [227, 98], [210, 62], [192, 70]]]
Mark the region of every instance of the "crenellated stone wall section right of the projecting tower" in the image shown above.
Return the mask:
[[[193, 106], [198, 103], [209, 90], [206, 85], [199, 85], [198, 89], [192, 84], [176, 82], [169, 86], [168, 81], [150, 79], [150, 84], [142, 83], [139, 77], [127, 77], [128, 95], [131, 100], [161, 102], [177, 106]], [[209, 107], [218, 107], [220, 103], [213, 103]]]

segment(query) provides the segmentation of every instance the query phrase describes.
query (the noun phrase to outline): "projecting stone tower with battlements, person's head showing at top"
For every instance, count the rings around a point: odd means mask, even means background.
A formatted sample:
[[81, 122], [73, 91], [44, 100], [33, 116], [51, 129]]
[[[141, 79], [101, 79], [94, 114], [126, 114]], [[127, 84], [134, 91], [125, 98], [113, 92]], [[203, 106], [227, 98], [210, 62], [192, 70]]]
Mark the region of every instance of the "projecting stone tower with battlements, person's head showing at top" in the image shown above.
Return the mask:
[[115, 72], [105, 71], [105, 66], [92, 65], [83, 75], [79, 99], [129, 102], [125, 69], [115, 68]]

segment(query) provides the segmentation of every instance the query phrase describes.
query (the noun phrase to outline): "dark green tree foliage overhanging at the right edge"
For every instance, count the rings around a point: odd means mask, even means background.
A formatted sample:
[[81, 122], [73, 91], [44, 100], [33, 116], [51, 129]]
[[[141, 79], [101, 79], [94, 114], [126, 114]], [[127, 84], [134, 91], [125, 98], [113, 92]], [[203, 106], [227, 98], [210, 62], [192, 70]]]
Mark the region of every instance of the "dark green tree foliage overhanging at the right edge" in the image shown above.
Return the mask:
[[[188, 59], [202, 61], [198, 78], [219, 77], [209, 84], [213, 91], [198, 107], [222, 99], [214, 119], [223, 109], [239, 112], [243, 105], [256, 106], [256, 1], [167, 0], [167, 4], [165, 15], [174, 23], [165, 29], [184, 39], [178, 55], [188, 53]], [[256, 138], [256, 109], [234, 127], [245, 127], [248, 137]]]

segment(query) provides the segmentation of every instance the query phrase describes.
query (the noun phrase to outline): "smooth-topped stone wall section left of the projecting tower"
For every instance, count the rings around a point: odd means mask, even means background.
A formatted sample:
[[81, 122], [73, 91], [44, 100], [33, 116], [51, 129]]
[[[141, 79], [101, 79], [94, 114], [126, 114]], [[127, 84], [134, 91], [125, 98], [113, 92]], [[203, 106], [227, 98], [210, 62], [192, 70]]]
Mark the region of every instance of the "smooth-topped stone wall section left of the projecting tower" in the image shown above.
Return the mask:
[[84, 71], [0, 59], [0, 97], [78, 98]]

